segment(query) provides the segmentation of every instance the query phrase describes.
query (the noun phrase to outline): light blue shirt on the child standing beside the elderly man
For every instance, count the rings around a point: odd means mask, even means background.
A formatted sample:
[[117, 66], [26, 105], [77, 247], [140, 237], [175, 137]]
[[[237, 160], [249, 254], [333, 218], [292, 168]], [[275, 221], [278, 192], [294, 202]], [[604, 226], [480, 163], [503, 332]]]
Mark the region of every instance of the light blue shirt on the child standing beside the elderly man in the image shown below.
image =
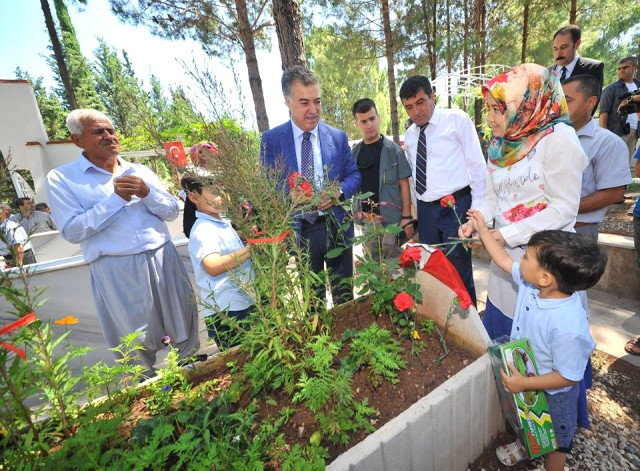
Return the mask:
[[204, 317], [212, 316], [217, 311], [240, 311], [253, 304], [253, 300], [244, 291], [243, 286], [253, 282], [251, 260], [246, 260], [239, 267], [218, 276], [209, 275], [202, 267], [202, 260], [207, 255], [219, 253], [227, 255], [240, 250], [244, 244], [238, 233], [227, 219], [216, 219], [208, 214], [196, 211], [196, 222], [189, 236], [189, 255], [196, 283], [200, 287], [200, 297], [211, 307], [201, 306]]

